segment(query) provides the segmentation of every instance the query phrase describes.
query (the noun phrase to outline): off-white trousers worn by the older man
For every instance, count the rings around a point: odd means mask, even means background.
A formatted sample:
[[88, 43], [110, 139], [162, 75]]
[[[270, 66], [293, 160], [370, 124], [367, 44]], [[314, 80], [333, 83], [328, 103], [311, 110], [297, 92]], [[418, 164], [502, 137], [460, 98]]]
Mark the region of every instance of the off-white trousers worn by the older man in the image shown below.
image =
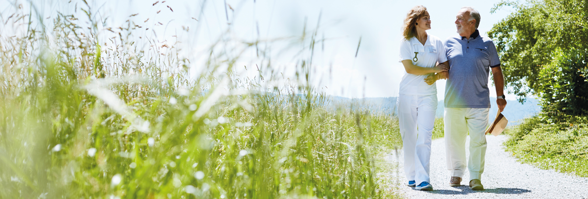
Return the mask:
[[463, 177], [466, 169], [466, 136], [470, 134], [467, 168], [470, 180], [480, 180], [486, 155], [489, 108], [445, 108], [445, 151], [451, 176]]

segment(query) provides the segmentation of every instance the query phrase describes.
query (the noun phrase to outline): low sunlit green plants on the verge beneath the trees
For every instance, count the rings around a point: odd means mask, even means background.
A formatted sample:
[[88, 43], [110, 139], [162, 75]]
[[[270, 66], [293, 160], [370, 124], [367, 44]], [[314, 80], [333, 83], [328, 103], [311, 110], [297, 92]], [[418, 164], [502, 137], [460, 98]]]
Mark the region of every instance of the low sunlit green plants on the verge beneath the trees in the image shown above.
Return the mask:
[[567, 119], [558, 123], [537, 116], [526, 119], [510, 130], [507, 150], [539, 168], [588, 177], [588, 117]]

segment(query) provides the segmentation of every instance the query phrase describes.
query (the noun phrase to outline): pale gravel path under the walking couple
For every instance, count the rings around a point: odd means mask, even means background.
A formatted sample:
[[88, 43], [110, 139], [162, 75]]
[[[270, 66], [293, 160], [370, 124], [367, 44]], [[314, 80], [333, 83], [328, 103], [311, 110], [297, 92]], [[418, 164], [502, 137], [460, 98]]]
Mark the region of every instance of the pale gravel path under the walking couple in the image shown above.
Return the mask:
[[[588, 198], [588, 178], [542, 170], [517, 162], [503, 149], [505, 135], [489, 135], [486, 140], [486, 166], [482, 174], [484, 191], [470, 190], [467, 171], [462, 186], [449, 186], [444, 138], [433, 140], [431, 146], [430, 178], [433, 191], [413, 190], [413, 187], [406, 186], [402, 150], [398, 150], [398, 154], [392, 151], [387, 155], [387, 161], [399, 163], [398, 170], [390, 171], [389, 174], [400, 180], [398, 190], [406, 198]], [[466, 154], [469, 155], [467, 147]]]

